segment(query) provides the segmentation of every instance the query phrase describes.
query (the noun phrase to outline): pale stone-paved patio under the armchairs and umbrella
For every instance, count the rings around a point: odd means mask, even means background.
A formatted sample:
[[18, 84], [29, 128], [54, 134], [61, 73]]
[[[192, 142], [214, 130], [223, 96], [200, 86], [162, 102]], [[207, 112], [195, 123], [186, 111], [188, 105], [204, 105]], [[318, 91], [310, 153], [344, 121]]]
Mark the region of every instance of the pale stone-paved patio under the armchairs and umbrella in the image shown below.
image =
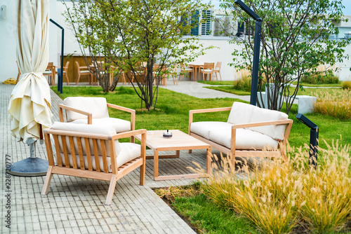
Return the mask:
[[[55, 174], [48, 195], [41, 195], [45, 177], [11, 176], [11, 185], [7, 188], [6, 157], [12, 163], [29, 157], [29, 146], [16, 142], [11, 136], [7, 108], [14, 87], [0, 83], [0, 233], [194, 233], [152, 191], [157, 187], [189, 184], [193, 179], [154, 181], [153, 160], [147, 160], [145, 186], [138, 185], [139, 170], [117, 181], [112, 205], [104, 205], [106, 181]], [[60, 97], [51, 91], [53, 121], [58, 121], [57, 104], [60, 102]], [[218, 151], [213, 150], [213, 153]], [[147, 154], [152, 152], [147, 151]], [[44, 144], [37, 144], [36, 155], [46, 159]], [[204, 168], [206, 150], [194, 150], [192, 154], [180, 151], [180, 158], [161, 159], [159, 174], [191, 173], [186, 167], [194, 166], [193, 160]], [[6, 227], [7, 214], [11, 214], [11, 229]]]

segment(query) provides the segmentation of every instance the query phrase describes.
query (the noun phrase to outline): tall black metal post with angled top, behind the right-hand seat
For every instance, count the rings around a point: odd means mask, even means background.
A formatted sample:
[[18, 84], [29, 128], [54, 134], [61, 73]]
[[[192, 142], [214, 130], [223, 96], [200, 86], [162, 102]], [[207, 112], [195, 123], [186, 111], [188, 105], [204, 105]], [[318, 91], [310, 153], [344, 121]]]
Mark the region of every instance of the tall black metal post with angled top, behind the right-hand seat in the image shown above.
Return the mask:
[[250, 96], [250, 104], [256, 106], [257, 99], [257, 87], [258, 87], [258, 66], [260, 64], [260, 37], [261, 37], [261, 29], [262, 29], [262, 19], [255, 12], [246, 6], [241, 0], [235, 0], [235, 4], [237, 4], [242, 10], [244, 10], [248, 15], [256, 20], [255, 26], [255, 39], [253, 41], [253, 63], [252, 63], [252, 74], [251, 74], [251, 96]]

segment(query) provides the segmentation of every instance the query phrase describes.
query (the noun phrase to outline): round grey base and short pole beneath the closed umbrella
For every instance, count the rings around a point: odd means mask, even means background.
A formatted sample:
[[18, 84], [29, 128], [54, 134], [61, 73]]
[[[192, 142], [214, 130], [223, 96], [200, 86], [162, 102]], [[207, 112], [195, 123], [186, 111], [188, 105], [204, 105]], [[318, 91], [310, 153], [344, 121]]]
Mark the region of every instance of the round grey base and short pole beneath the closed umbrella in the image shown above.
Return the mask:
[[29, 144], [30, 157], [11, 164], [8, 174], [18, 177], [42, 177], [48, 171], [48, 160], [35, 156], [35, 146], [37, 142]]

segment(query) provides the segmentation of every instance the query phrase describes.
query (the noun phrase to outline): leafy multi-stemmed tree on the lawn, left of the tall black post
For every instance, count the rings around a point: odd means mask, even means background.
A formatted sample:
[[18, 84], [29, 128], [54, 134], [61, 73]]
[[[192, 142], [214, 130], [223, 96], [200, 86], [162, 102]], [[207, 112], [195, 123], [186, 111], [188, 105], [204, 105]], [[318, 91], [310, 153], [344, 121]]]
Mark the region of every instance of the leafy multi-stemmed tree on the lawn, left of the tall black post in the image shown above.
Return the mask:
[[140, 107], [150, 110], [157, 104], [161, 78], [176, 64], [204, 53], [197, 37], [183, 35], [199, 24], [189, 20], [196, 10], [208, 7], [200, 0], [81, 0], [67, 6], [66, 16], [81, 52], [104, 57], [102, 71], [93, 67], [100, 85], [106, 81], [104, 71], [114, 77], [110, 90], [124, 74], [141, 99]]

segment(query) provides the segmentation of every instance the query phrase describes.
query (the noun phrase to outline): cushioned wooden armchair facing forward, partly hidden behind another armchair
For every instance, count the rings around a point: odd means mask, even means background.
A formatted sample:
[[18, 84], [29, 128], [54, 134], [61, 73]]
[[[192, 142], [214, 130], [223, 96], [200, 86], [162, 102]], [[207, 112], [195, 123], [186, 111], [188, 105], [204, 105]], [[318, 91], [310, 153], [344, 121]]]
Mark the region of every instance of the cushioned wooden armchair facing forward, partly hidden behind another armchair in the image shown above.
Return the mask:
[[[110, 118], [108, 107], [131, 113], [131, 121]], [[135, 130], [135, 110], [107, 103], [105, 97], [66, 97], [63, 104], [58, 104], [60, 122], [65, 122], [63, 109], [69, 123], [110, 125], [117, 133]]]

